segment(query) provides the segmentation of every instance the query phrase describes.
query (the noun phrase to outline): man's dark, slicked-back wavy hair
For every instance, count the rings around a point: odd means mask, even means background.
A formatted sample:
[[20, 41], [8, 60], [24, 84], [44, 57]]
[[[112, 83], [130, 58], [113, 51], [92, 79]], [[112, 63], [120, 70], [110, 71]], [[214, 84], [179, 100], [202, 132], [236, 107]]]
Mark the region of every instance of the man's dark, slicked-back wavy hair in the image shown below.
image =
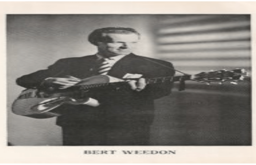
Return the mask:
[[140, 34], [133, 28], [123, 27], [107, 27], [94, 30], [88, 37], [91, 44], [98, 46], [98, 42], [107, 42], [108, 38], [104, 34], [136, 34], [140, 37]]

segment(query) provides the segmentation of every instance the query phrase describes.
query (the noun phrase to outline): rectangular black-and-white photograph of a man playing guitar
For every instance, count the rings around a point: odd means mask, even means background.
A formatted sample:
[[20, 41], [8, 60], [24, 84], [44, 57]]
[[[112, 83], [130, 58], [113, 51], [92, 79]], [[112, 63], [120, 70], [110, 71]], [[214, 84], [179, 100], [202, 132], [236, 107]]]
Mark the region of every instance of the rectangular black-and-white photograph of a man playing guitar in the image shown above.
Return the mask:
[[251, 146], [250, 14], [7, 14], [8, 146]]

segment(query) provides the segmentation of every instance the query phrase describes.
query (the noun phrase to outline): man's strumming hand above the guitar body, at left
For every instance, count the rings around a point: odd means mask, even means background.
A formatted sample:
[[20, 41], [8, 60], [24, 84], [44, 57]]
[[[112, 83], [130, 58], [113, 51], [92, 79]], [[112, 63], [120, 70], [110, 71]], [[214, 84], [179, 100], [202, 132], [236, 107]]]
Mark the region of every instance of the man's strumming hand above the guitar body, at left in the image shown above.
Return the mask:
[[73, 85], [76, 85], [78, 82], [80, 82], [80, 79], [77, 79], [75, 77], [70, 78], [58, 78], [58, 77], [51, 77], [44, 80], [44, 85], [55, 85], [58, 87], [58, 89], [66, 89]]

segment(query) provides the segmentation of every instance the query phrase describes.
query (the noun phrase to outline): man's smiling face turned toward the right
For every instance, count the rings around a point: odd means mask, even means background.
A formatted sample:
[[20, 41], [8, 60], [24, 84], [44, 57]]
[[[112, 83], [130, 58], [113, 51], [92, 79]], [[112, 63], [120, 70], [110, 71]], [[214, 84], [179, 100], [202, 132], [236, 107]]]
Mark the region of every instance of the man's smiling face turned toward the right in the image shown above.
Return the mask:
[[139, 41], [139, 36], [136, 34], [105, 34], [106, 42], [98, 42], [98, 51], [106, 57], [117, 55], [128, 55], [133, 52], [136, 44]]

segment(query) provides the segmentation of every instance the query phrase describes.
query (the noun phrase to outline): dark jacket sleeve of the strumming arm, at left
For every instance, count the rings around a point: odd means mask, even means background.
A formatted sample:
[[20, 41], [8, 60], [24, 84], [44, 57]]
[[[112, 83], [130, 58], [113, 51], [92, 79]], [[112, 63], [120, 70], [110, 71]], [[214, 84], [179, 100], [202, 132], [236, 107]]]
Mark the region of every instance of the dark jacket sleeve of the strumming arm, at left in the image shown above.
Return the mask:
[[61, 76], [66, 67], [67, 62], [64, 59], [60, 59], [45, 70], [38, 70], [17, 78], [16, 83], [24, 88], [37, 88], [44, 79]]

